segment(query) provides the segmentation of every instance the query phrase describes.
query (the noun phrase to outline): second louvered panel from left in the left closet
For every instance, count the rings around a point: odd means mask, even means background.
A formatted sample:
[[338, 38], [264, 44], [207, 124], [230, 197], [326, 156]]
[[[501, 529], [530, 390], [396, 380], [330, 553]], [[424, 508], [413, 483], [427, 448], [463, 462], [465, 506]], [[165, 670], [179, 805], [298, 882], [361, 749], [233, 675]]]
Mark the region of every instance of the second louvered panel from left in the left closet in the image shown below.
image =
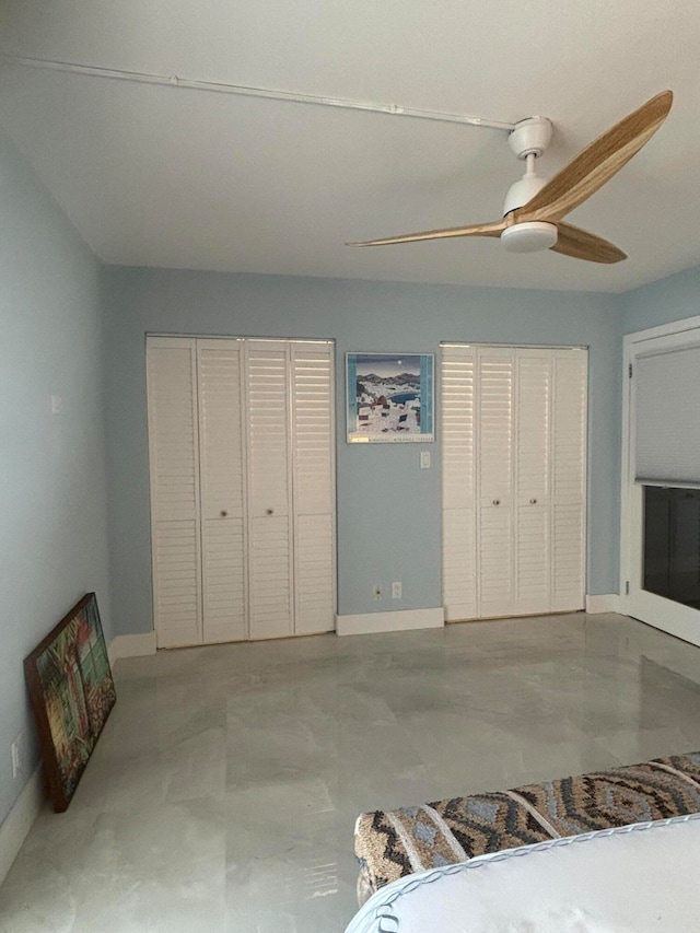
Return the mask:
[[202, 640], [247, 637], [241, 340], [197, 340]]

